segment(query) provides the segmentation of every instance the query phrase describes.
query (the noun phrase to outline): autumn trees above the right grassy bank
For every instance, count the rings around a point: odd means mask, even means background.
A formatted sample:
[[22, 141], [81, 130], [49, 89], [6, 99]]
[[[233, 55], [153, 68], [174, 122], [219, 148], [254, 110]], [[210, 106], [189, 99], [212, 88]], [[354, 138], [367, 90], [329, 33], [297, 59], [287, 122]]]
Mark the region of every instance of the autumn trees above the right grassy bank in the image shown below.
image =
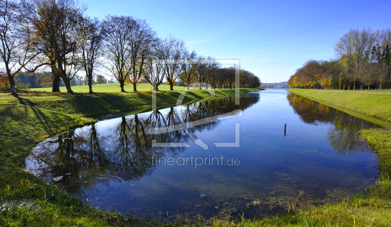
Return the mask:
[[337, 59], [308, 60], [289, 79], [297, 88], [383, 89], [391, 87], [391, 30], [350, 29], [337, 41]]

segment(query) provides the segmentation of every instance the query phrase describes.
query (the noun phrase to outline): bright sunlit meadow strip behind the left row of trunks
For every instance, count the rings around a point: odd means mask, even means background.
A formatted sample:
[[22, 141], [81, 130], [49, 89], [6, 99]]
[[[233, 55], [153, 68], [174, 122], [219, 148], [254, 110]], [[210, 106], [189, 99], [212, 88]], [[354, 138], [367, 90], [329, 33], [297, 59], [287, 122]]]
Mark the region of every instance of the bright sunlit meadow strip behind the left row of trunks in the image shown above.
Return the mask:
[[[81, 85], [81, 86], [71, 86], [72, 90], [74, 92], [89, 92], [90, 89], [88, 85]], [[174, 90], [183, 90], [185, 87], [179, 87], [174, 86]], [[124, 89], [127, 92], [133, 91], [133, 84], [128, 83], [124, 86]], [[170, 90], [170, 85], [159, 85], [159, 90]], [[190, 89], [194, 89], [190, 87]], [[31, 91], [52, 91], [51, 87], [43, 87], [43, 88], [32, 88]], [[152, 85], [149, 83], [140, 83], [137, 85], [137, 91], [150, 91], [152, 90]], [[92, 85], [92, 91], [93, 92], [121, 92], [120, 84], [119, 83], [101, 83], [101, 84], [95, 84]], [[60, 92], [66, 92], [65, 87], [60, 87]]]

